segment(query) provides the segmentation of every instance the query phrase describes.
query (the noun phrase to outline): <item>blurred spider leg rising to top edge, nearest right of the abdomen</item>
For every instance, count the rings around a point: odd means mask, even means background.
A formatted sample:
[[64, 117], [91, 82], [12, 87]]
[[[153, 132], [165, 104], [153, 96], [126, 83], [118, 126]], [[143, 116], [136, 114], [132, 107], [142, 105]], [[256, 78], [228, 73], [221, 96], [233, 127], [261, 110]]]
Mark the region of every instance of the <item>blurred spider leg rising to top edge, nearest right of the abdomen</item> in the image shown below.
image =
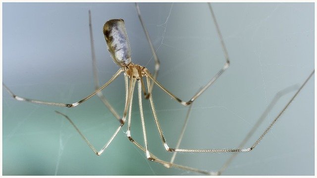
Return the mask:
[[[152, 44], [152, 41], [151, 41], [151, 39], [150, 39], [150, 35], [149, 35], [149, 33], [148, 33], [148, 30], [145, 28], [145, 25], [144, 25], [144, 23], [143, 23], [139, 4], [138, 4], [138, 3], [135, 3], [135, 6], [136, 6], [136, 8], [137, 8], [137, 13], [138, 13], [138, 16], [139, 16], [139, 20], [140, 20], [140, 22], [141, 22], [142, 28], [143, 28], [143, 30], [144, 30], [144, 33], [145, 33], [146, 37], [147, 37], [147, 40], [148, 40], [148, 42], [149, 42], [149, 45], [150, 45], [150, 47], [151, 47], [151, 51], [152, 51], [152, 54], [153, 54], [153, 57], [154, 57], [154, 60], [155, 60], [154, 79], [156, 80], [157, 77], [158, 77], [158, 74], [159, 74], [159, 65], [160, 65], [160, 64], [159, 64], [159, 58], [158, 58], [158, 55], [157, 55], [157, 53], [156, 53], [156, 51], [155, 51], [155, 49], [154, 49], [154, 47], [153, 47], [153, 44]], [[145, 96], [145, 98], [147, 98], [147, 99], [149, 98], [149, 95], [150, 95], [151, 92], [152, 92], [153, 86], [154, 86], [154, 83], [152, 82], [151, 88], [150, 88], [148, 94]]]

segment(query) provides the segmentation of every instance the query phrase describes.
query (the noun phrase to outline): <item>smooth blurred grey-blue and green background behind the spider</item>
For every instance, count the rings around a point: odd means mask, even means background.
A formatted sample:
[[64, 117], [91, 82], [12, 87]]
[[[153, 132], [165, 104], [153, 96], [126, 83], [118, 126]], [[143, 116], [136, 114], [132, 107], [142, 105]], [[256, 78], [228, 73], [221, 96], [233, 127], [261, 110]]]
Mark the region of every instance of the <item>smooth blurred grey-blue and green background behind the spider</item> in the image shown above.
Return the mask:
[[[206, 3], [142, 3], [141, 12], [161, 61], [158, 80], [189, 99], [224, 64]], [[314, 3], [216, 3], [214, 13], [231, 66], [193, 105], [183, 148], [234, 148], [274, 95], [302, 84], [314, 69]], [[100, 82], [117, 70], [106, 50], [106, 20], [125, 20], [133, 62], [154, 71], [151, 50], [133, 3], [3, 3], [3, 82], [16, 94], [46, 101], [76, 102], [94, 90], [88, 9], [92, 11]], [[124, 107], [123, 77], [104, 91]], [[135, 93], [136, 94], [136, 93]], [[247, 143], [251, 145], [294, 91], [283, 96]], [[158, 87], [154, 101], [167, 142], [173, 147], [187, 108]], [[136, 95], [135, 95], [136, 96]], [[98, 97], [75, 108], [18, 102], [3, 90], [3, 175], [192, 175], [145, 159], [119, 132], [98, 157], [60, 115], [67, 114], [100, 149], [118, 126]], [[140, 143], [134, 99], [132, 135]], [[168, 160], [147, 101], [150, 149]], [[121, 115], [121, 114], [120, 114]], [[263, 141], [242, 153], [224, 175], [314, 175], [314, 77]], [[218, 170], [230, 153], [181, 153], [176, 163]]]

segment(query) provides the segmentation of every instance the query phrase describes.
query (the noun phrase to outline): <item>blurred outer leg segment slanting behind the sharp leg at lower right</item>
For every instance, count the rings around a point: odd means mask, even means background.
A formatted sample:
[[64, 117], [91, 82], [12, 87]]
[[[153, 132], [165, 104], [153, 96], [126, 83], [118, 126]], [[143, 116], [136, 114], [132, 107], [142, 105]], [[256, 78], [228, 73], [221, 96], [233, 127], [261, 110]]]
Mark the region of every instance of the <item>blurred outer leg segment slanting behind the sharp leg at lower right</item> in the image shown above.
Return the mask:
[[[250, 132], [246, 135], [246, 137], [241, 141], [241, 143], [239, 144], [239, 148], [245, 146], [245, 144], [247, 143], [247, 141], [251, 138], [251, 136], [255, 133], [255, 131], [258, 129], [258, 127], [262, 124], [262, 122], [264, 121], [264, 119], [266, 118], [266, 116], [268, 115], [268, 113], [272, 110], [272, 108], [274, 107], [274, 105], [276, 104], [276, 102], [285, 94], [294, 91], [296, 89], [298, 89], [299, 86], [294, 85], [291, 87], [288, 87], [286, 89], [283, 89], [279, 92], [276, 93], [276, 95], [274, 96], [274, 98], [272, 99], [272, 101], [268, 104], [268, 106], [266, 107], [266, 109], [264, 110], [264, 112], [262, 113], [261, 117], [258, 119], [257, 123], [253, 126], [253, 128], [250, 130]], [[221, 169], [218, 171], [218, 174], [221, 175], [223, 173], [224, 170], [227, 169], [227, 167], [229, 166], [229, 164], [233, 161], [233, 159], [238, 155], [238, 152], [233, 153], [230, 158], [222, 165]]]

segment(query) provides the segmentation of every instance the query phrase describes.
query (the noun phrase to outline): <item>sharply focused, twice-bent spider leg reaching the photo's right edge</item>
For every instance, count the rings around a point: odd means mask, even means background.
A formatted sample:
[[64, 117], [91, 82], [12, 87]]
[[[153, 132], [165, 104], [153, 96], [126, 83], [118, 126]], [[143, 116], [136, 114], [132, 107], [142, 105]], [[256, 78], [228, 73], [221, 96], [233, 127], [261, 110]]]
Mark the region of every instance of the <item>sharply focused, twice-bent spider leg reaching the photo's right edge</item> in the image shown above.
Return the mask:
[[[152, 95], [150, 95], [151, 108], [152, 108], [152, 111], [153, 111], [153, 115], [154, 115], [154, 118], [155, 118], [155, 123], [157, 125], [162, 144], [163, 144], [164, 148], [167, 151], [179, 151], [179, 152], [248, 152], [248, 151], [251, 151], [260, 143], [260, 141], [263, 139], [265, 134], [267, 134], [268, 131], [273, 127], [273, 125], [276, 123], [276, 121], [284, 113], [284, 111], [287, 109], [287, 107], [290, 105], [290, 103], [294, 100], [294, 98], [297, 96], [297, 94], [301, 91], [301, 89], [303, 89], [303, 87], [306, 85], [306, 83], [313, 76], [314, 73], [315, 73], [315, 69], [309, 75], [309, 77], [305, 80], [303, 85], [293, 95], [293, 97], [289, 100], [289, 102], [280, 111], [280, 113], [275, 117], [275, 119], [272, 121], [272, 123], [266, 128], [264, 133], [256, 140], [256, 142], [251, 147], [248, 147], [248, 148], [239, 148], [239, 149], [179, 149], [179, 148], [176, 149], [176, 148], [169, 148], [167, 143], [166, 143], [166, 141], [165, 141], [165, 138], [164, 138], [164, 135], [162, 133], [162, 130], [161, 130], [160, 126], [159, 126], [158, 117], [157, 117], [157, 114], [156, 114], [156, 111], [155, 111], [155, 107], [154, 107], [154, 104], [153, 104], [153, 98], [152, 98]], [[147, 83], [148, 83], [148, 86], [149, 86], [149, 78], [148, 77], [147, 77]]]

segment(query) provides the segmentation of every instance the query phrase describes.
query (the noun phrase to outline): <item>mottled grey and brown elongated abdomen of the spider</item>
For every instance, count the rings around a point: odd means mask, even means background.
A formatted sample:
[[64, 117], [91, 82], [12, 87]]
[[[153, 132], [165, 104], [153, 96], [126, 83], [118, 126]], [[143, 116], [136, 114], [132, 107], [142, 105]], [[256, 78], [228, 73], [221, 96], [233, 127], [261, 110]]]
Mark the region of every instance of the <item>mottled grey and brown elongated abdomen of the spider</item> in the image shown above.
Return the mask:
[[104, 35], [113, 61], [119, 66], [128, 66], [131, 62], [131, 51], [124, 21], [122, 19], [107, 21], [104, 25]]

